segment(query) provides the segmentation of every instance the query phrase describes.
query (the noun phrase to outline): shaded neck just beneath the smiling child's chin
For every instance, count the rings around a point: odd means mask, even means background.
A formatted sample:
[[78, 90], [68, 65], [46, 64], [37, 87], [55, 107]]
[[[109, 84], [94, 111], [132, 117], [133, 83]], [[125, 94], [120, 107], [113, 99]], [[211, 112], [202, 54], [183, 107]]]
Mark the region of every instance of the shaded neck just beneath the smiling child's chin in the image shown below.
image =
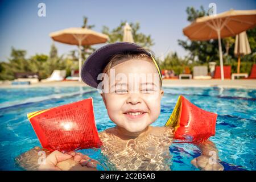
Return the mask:
[[144, 130], [139, 132], [130, 132], [124, 129], [123, 127], [116, 126], [115, 129], [117, 130], [118, 136], [122, 139], [135, 139], [141, 138], [148, 133], [150, 130], [150, 126], [147, 126]]

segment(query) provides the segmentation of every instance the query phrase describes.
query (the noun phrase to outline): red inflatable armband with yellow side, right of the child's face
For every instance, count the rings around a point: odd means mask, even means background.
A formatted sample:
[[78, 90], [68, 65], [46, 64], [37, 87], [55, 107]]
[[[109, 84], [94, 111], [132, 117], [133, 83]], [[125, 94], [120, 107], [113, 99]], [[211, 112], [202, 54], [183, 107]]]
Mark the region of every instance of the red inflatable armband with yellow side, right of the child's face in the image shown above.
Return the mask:
[[217, 114], [200, 109], [179, 96], [166, 126], [174, 128], [175, 139], [203, 142], [215, 135], [216, 119]]

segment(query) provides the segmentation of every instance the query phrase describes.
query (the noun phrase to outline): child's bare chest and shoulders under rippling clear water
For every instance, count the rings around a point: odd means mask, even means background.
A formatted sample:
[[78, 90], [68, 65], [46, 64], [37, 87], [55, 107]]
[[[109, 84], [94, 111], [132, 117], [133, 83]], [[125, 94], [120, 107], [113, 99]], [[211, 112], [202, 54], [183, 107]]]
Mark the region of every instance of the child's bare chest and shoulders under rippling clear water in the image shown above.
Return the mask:
[[166, 127], [139, 139], [122, 140], [115, 128], [102, 132], [100, 137], [104, 143], [102, 154], [118, 170], [170, 170], [172, 131]]

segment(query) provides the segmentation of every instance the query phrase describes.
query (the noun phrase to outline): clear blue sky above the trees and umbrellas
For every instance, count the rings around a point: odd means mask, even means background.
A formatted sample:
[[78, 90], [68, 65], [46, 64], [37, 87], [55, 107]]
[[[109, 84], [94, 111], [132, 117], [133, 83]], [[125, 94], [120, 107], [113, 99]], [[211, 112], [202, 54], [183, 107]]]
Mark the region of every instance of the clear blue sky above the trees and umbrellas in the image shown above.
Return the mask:
[[[46, 4], [46, 17], [38, 16], [38, 4]], [[121, 20], [141, 23], [141, 32], [150, 34], [155, 46], [151, 49], [156, 57], [176, 51], [184, 56], [177, 39], [187, 39], [182, 32], [188, 26], [185, 9], [193, 6], [199, 9], [203, 5], [207, 10], [209, 3], [217, 5], [217, 13], [230, 9], [256, 9], [256, 1], [1, 1], [0, 2], [0, 61], [10, 56], [11, 46], [24, 49], [27, 56], [35, 53], [49, 53], [52, 39], [49, 33], [68, 27], [80, 27], [82, 17], [89, 18], [89, 24], [95, 24], [95, 31], [101, 32], [102, 26], [110, 29], [119, 25]], [[76, 49], [76, 46], [55, 43], [59, 55]], [[98, 44], [97, 47], [102, 46]]]

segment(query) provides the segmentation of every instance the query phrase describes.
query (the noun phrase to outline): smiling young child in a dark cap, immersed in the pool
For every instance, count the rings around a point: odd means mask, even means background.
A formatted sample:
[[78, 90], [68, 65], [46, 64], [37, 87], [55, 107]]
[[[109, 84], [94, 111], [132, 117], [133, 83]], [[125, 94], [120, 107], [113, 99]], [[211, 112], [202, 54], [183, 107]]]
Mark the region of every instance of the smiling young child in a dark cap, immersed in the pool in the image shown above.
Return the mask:
[[[116, 77], [112, 76], [113, 71]], [[99, 79], [99, 73], [106, 75]], [[103, 143], [101, 152], [114, 164], [115, 169], [170, 170], [169, 147], [174, 137], [172, 128], [150, 126], [159, 117], [160, 101], [164, 94], [160, 68], [154, 58], [136, 44], [109, 44], [86, 60], [81, 76], [86, 84], [94, 88], [102, 86], [102, 100], [109, 118], [116, 124], [99, 134]], [[210, 151], [217, 154], [212, 142], [207, 140], [200, 143], [199, 148], [202, 154], [192, 160], [194, 166], [202, 170], [224, 169], [218, 163], [218, 155], [216, 163], [209, 161], [212, 157]], [[30, 157], [29, 153], [33, 150], [18, 158], [24, 168], [88, 170], [95, 169], [97, 164], [95, 160], [76, 152], [63, 154], [54, 151], [47, 156], [46, 164], [39, 166], [35, 164], [35, 158], [34, 162], [24, 160]], [[31, 163], [35, 166], [31, 167]]]

